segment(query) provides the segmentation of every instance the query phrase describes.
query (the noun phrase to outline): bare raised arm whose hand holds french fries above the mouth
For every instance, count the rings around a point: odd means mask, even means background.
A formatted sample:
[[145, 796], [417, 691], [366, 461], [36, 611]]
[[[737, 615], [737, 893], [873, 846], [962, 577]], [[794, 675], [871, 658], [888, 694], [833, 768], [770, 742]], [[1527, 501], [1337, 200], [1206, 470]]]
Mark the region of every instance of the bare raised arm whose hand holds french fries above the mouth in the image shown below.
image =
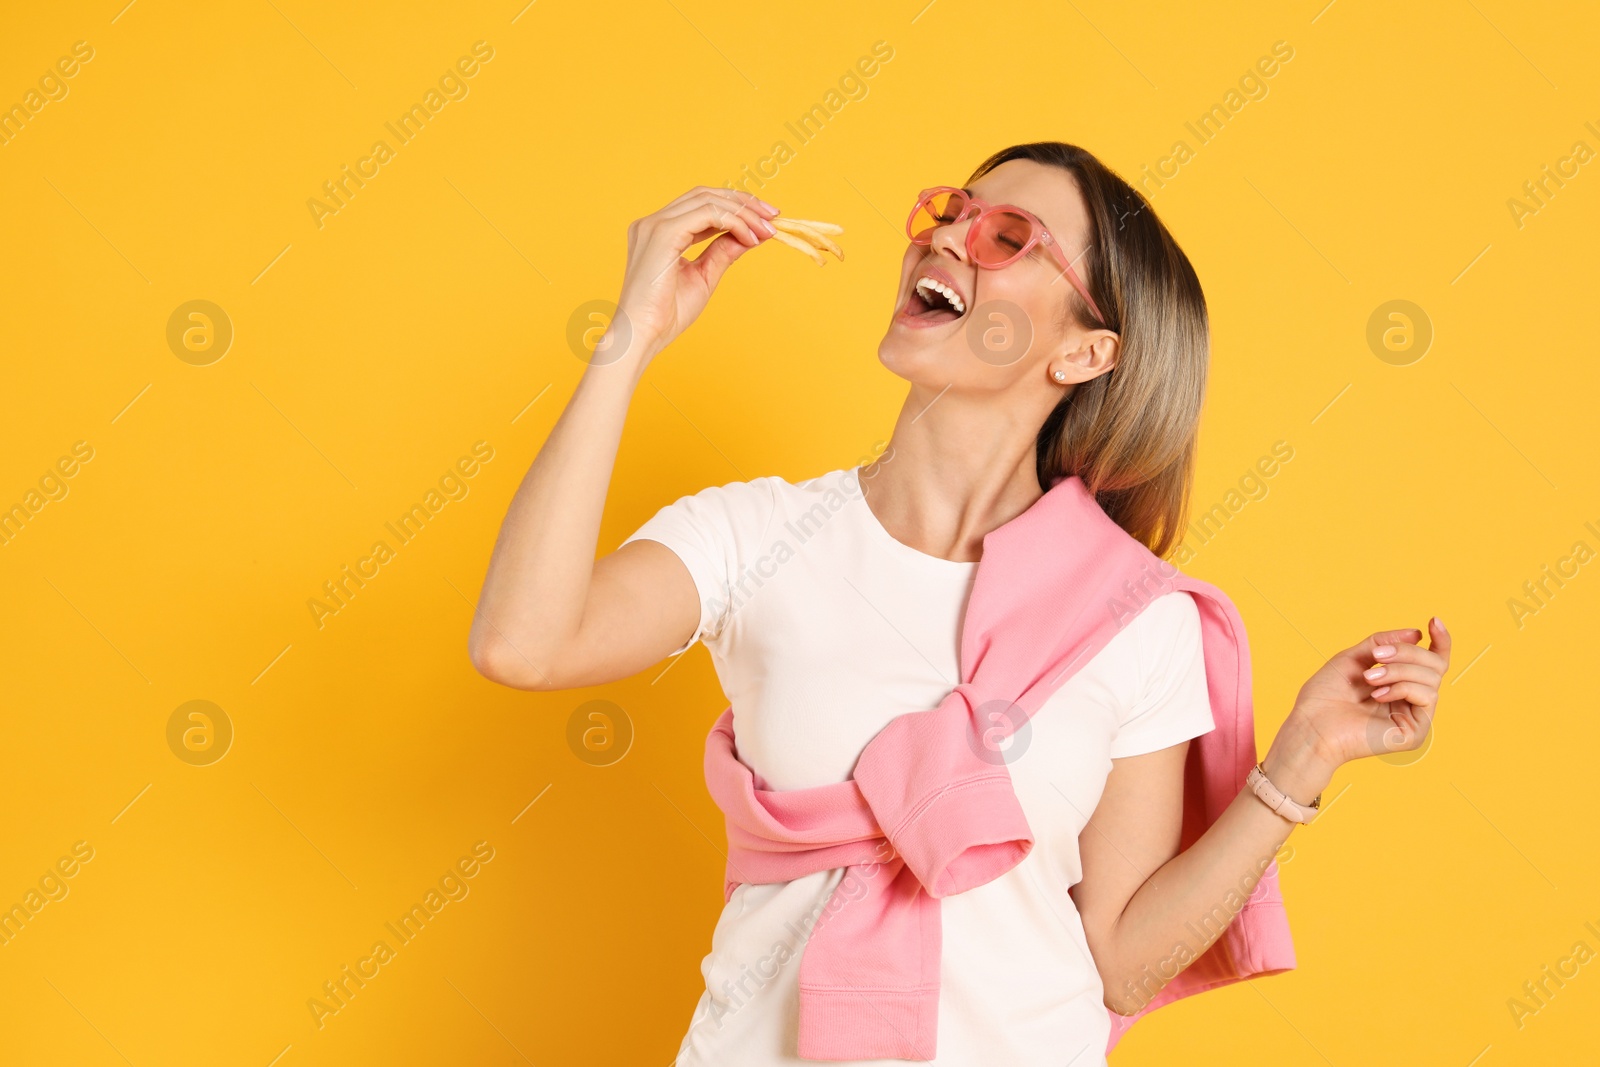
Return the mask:
[[666, 545], [632, 541], [595, 560], [600, 515], [640, 376], [706, 309], [728, 266], [771, 237], [774, 214], [747, 194], [699, 186], [629, 226], [618, 314], [490, 557], [467, 638], [485, 677], [518, 689], [602, 685], [661, 661], [699, 625], [699, 593]]

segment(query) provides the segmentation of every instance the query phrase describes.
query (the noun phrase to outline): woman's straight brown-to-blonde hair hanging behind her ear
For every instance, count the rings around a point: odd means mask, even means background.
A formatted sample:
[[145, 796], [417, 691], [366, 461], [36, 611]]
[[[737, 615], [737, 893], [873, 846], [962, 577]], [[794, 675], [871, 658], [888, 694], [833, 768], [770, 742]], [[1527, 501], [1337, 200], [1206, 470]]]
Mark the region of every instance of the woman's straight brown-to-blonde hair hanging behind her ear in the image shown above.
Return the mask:
[[[1008, 160], [1059, 166], [1090, 214], [1090, 251], [1077, 269], [1107, 330], [1117, 365], [1077, 386], [1038, 430], [1038, 483], [1078, 475], [1110, 518], [1165, 557], [1181, 541], [1194, 482], [1211, 341], [1205, 293], [1189, 258], [1149, 200], [1074, 144], [1016, 144], [984, 160], [968, 184]], [[1096, 322], [1075, 290], [1064, 315]]]

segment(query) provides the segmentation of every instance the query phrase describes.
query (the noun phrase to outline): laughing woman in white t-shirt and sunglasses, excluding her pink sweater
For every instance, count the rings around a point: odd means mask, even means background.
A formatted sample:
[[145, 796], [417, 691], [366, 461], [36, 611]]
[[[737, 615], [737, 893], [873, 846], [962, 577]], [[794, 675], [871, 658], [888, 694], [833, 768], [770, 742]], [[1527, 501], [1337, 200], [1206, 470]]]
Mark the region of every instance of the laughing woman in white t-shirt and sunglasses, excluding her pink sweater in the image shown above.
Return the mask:
[[[470, 651], [496, 681], [563, 689], [702, 640], [739, 761], [762, 789], [806, 790], [850, 779], [890, 721], [950, 693], [984, 536], [1059, 480], [1082, 478], [1157, 555], [1173, 549], [1208, 334], [1194, 269], [1134, 189], [1074, 146], [1005, 149], [963, 190], [920, 200], [907, 226], [878, 358], [910, 389], [883, 454], [682, 498], [595, 560], [640, 376], [776, 214], [698, 187], [629, 227], [605, 358], [510, 504]], [[1134, 976], [1288, 838], [1294, 822], [1240, 789], [1179, 851], [1189, 742], [1214, 726], [1200, 633], [1192, 597], [1155, 597], [1006, 753], [1035, 846], [942, 901], [938, 1062], [1106, 1062], [1107, 1008], [1149, 1003]], [[1421, 638], [1373, 633], [1312, 675], [1261, 761], [1270, 785], [1309, 806], [1341, 763], [1419, 747], [1450, 656], [1437, 619]], [[680, 1064], [806, 1062], [794, 960], [821, 909], [848, 896], [842, 878], [733, 891]]]

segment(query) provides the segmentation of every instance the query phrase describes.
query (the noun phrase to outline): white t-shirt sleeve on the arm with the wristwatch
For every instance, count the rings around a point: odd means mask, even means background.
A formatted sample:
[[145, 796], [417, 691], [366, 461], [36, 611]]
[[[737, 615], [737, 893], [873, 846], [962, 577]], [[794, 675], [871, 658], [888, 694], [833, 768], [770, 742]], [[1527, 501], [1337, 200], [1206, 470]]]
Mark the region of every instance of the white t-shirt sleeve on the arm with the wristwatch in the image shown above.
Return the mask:
[[1139, 630], [1142, 688], [1112, 741], [1114, 760], [1166, 749], [1216, 728], [1194, 597], [1181, 590], [1162, 593], [1133, 625]]

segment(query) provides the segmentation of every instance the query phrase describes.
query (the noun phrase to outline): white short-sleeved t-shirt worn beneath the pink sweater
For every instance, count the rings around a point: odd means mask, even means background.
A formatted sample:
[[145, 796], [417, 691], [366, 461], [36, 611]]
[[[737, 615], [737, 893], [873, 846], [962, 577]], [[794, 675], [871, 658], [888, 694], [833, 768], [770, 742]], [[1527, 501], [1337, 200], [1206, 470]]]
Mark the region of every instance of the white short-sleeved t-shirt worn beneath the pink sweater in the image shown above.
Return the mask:
[[[739, 758], [758, 785], [846, 781], [890, 720], [938, 707], [960, 680], [978, 563], [896, 541], [867, 507], [859, 467], [707, 488], [662, 507], [629, 541], [640, 537], [672, 549], [694, 579], [701, 622], [683, 649], [696, 640], [710, 649]], [[1034, 849], [942, 902], [933, 1062], [1106, 1064], [1101, 979], [1067, 894], [1083, 877], [1078, 833], [1112, 758], [1213, 728], [1200, 613], [1182, 592], [1157, 597], [1040, 707], [1026, 749], [1008, 753]], [[706, 992], [678, 1067], [810, 1062], [795, 1056], [800, 953], [842, 877], [734, 889], [701, 963]]]

